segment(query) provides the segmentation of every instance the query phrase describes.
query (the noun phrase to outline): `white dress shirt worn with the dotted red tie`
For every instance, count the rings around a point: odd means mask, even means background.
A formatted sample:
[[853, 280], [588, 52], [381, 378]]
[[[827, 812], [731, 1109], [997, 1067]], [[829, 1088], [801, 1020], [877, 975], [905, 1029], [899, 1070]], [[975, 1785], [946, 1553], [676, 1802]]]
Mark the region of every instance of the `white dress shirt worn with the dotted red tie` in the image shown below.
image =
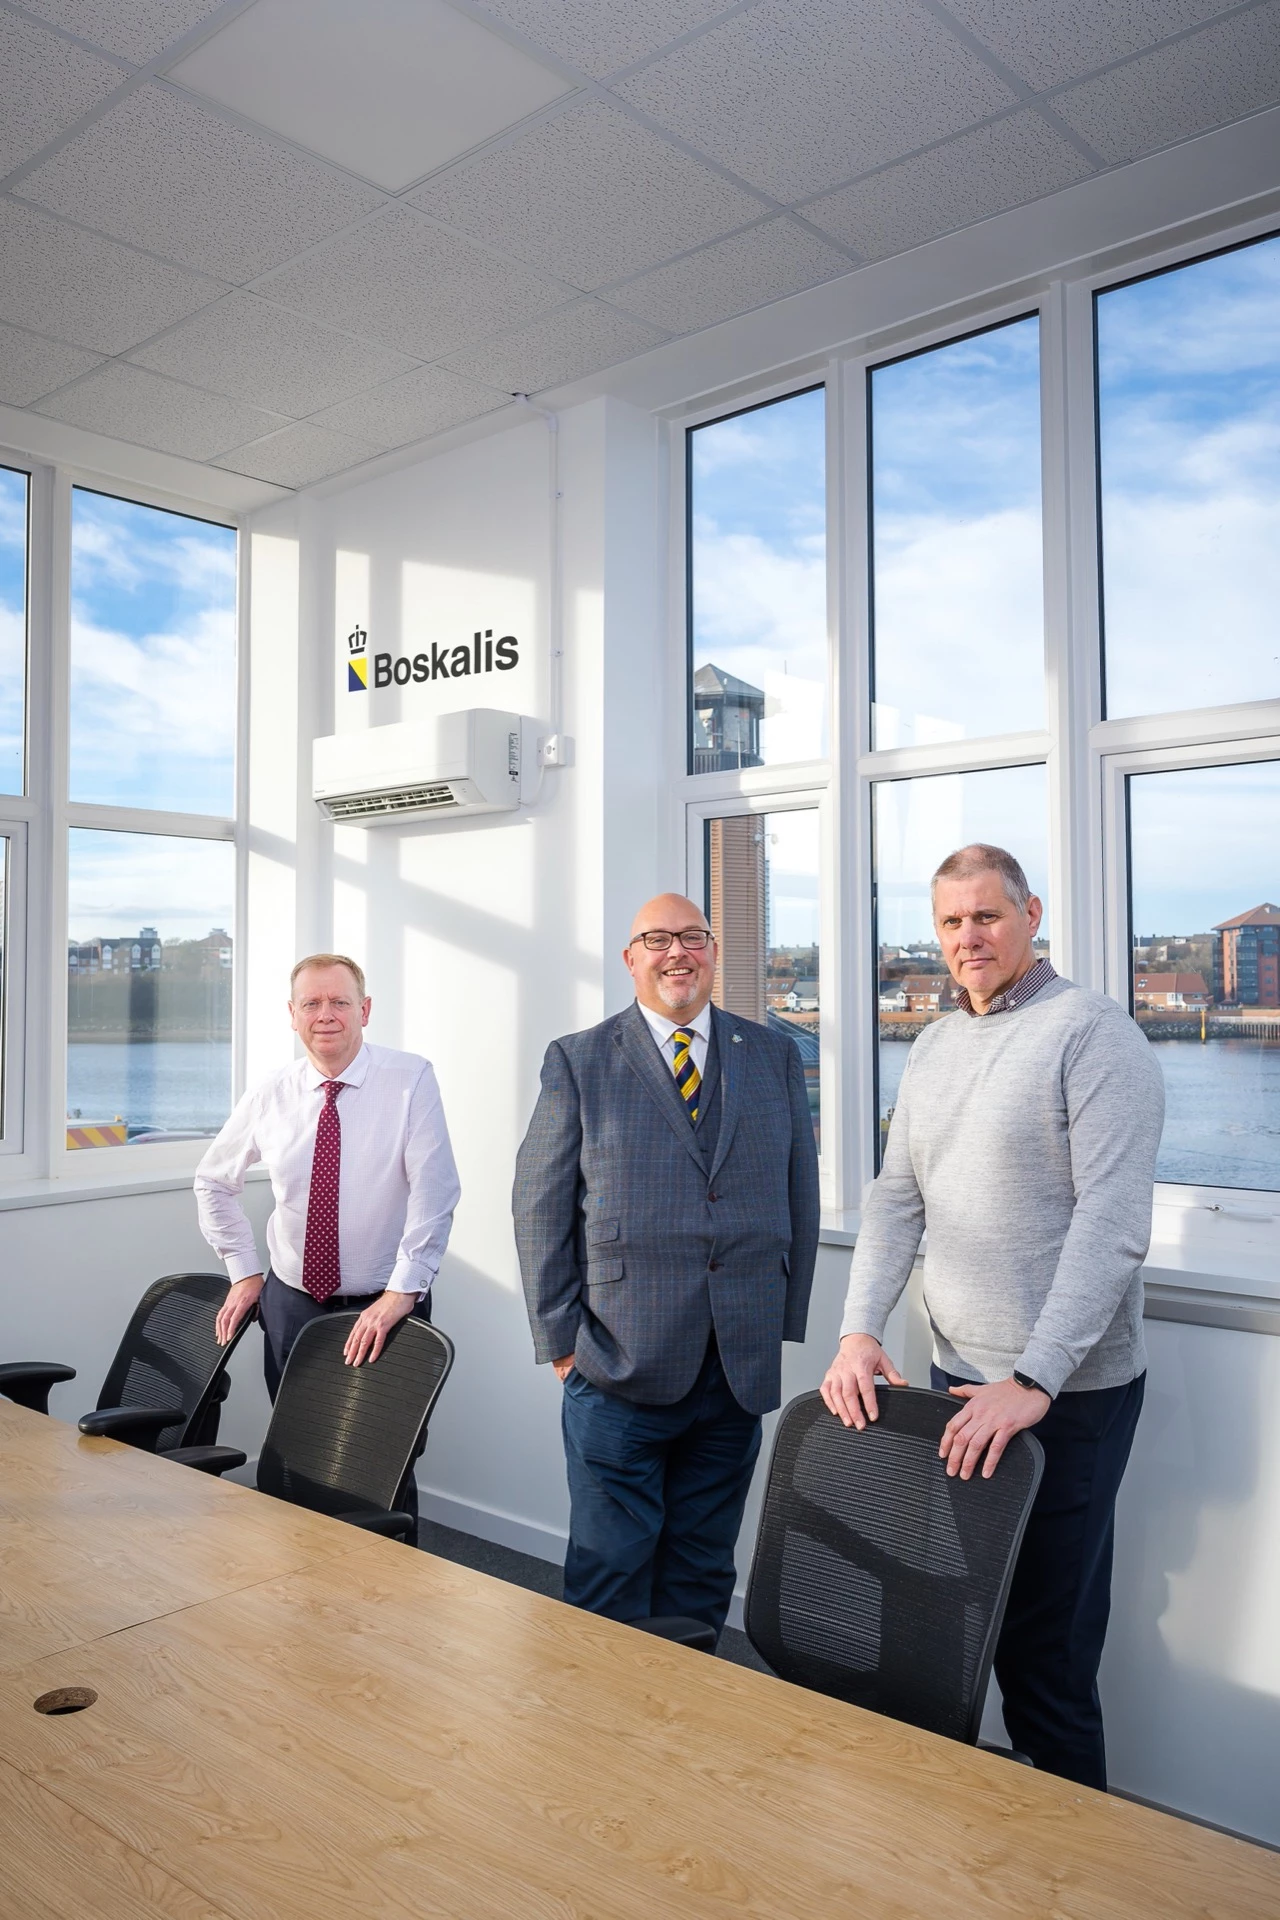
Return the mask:
[[[338, 1185], [340, 1294], [424, 1294], [445, 1246], [459, 1177], [439, 1089], [428, 1060], [361, 1046], [342, 1073]], [[271, 1271], [301, 1286], [315, 1127], [324, 1073], [309, 1060], [278, 1068], [236, 1104], [196, 1169], [200, 1231], [232, 1281], [263, 1271], [240, 1204], [255, 1162], [271, 1171], [276, 1208], [267, 1221]]]

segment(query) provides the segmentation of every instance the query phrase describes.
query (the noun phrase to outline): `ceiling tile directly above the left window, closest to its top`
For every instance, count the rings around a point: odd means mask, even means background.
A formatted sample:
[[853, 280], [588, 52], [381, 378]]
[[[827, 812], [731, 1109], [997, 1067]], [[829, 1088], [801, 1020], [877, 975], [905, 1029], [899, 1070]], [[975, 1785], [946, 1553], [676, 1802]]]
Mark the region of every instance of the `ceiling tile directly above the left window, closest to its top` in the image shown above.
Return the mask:
[[111, 361], [77, 386], [42, 399], [36, 413], [48, 413], [94, 434], [111, 434], [161, 453], [180, 453], [188, 461], [207, 461], [253, 434], [280, 424], [274, 413], [242, 407], [221, 394], [201, 394], [177, 380], [161, 380], [142, 367]]

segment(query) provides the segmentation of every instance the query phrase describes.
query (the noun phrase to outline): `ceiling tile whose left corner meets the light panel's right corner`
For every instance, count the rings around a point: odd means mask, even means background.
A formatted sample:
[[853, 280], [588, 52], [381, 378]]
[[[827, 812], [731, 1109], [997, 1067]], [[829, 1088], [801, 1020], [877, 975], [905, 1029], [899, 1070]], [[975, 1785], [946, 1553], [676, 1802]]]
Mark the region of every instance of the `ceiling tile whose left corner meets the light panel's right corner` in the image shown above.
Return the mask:
[[764, 0], [616, 90], [785, 202], [1015, 106], [917, 0]]

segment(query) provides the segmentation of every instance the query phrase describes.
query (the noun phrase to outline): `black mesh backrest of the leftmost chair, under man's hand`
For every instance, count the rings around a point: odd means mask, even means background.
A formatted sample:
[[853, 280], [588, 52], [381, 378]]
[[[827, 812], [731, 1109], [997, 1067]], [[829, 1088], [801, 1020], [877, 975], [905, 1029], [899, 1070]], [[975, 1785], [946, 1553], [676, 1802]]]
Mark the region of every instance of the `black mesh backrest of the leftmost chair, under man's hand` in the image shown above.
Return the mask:
[[167, 1273], [142, 1294], [115, 1350], [98, 1394], [100, 1411], [182, 1407], [182, 1421], [159, 1434], [157, 1453], [203, 1438], [205, 1413], [219, 1396], [226, 1361], [248, 1325], [244, 1321], [226, 1346], [217, 1344], [213, 1327], [225, 1300], [225, 1273]]

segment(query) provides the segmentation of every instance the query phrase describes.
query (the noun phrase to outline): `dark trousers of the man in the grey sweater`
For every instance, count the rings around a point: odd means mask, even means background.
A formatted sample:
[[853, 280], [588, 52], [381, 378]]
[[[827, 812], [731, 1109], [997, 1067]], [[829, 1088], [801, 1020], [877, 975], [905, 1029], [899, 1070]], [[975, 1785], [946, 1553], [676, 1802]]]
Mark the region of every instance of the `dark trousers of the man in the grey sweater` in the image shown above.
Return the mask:
[[[967, 1382], [931, 1369], [933, 1384]], [[1142, 1413], [1128, 1386], [1059, 1394], [1038, 1427], [1044, 1478], [1013, 1569], [996, 1645], [1004, 1724], [1046, 1774], [1107, 1789], [1098, 1665], [1111, 1613], [1115, 1496]], [[960, 1405], [960, 1402], [958, 1402]]]

